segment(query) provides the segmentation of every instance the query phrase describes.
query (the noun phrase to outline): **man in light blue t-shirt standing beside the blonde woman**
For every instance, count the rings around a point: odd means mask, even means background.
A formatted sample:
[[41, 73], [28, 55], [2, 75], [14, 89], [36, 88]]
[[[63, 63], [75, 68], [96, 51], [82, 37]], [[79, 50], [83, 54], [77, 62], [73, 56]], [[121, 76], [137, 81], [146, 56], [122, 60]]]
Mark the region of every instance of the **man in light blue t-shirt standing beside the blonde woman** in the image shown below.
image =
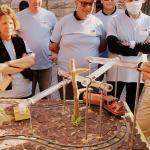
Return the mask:
[[42, 0], [28, 0], [28, 3], [29, 7], [18, 12], [17, 16], [21, 24], [20, 36], [35, 53], [35, 64], [31, 68], [34, 95], [37, 83], [40, 91], [47, 89], [51, 83], [52, 64], [48, 43], [57, 19], [52, 12], [41, 8]]

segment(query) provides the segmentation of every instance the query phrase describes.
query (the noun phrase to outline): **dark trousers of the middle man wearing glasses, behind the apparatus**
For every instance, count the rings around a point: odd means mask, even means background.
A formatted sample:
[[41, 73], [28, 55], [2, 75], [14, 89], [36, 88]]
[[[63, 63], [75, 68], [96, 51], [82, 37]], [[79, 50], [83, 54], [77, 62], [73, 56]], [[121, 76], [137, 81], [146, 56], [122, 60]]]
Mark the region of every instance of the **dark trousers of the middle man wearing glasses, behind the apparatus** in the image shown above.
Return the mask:
[[[63, 76], [57, 75], [57, 77], [58, 77], [58, 82], [61, 82], [63, 80]], [[83, 88], [81, 83], [78, 82], [77, 85], [78, 85], [79, 89]], [[60, 98], [63, 100], [63, 88], [59, 89], [59, 93], [60, 93]], [[73, 100], [73, 86], [72, 86], [72, 82], [69, 83], [66, 86], [66, 99], [67, 100]], [[83, 99], [83, 94], [80, 95], [79, 99]]]

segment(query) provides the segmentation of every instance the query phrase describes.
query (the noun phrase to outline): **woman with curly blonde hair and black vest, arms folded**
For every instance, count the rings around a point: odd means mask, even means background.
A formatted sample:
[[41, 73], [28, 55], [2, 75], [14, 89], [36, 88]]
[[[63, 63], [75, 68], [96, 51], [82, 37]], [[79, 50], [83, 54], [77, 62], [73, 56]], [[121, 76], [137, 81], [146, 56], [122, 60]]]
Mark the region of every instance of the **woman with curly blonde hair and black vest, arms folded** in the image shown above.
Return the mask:
[[[31, 95], [34, 54], [16, 35], [19, 22], [7, 5], [0, 6], [0, 98], [25, 98]], [[31, 53], [31, 54], [29, 54]]]

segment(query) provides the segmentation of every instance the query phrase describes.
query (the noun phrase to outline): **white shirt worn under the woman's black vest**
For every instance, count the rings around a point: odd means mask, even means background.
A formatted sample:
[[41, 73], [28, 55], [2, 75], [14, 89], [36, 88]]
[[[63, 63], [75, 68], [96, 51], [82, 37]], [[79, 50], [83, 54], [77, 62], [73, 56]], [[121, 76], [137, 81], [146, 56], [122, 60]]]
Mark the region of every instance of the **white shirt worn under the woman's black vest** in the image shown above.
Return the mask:
[[[16, 53], [12, 41], [3, 41], [11, 60], [16, 59]], [[27, 44], [26, 52], [31, 52]], [[25, 79], [21, 73], [12, 74], [12, 89], [0, 91], [0, 98], [22, 98], [31, 95], [32, 82]]]

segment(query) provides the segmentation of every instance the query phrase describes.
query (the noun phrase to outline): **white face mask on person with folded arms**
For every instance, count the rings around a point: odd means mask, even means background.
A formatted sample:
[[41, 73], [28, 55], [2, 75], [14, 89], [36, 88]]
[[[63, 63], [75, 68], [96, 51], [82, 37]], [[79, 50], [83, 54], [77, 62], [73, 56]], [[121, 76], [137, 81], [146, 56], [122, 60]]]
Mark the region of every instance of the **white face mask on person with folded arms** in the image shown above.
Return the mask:
[[128, 12], [132, 14], [138, 14], [142, 8], [142, 2], [141, 1], [128, 2], [126, 4], [126, 8]]

